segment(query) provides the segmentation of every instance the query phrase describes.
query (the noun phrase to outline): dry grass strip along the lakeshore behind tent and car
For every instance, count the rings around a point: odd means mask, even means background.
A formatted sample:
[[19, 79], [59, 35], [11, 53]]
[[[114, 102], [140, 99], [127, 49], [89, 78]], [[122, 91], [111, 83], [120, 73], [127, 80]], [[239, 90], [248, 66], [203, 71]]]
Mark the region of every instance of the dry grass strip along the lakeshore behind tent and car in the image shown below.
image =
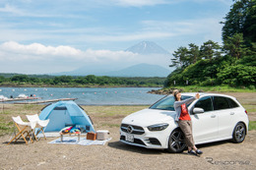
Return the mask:
[[[11, 134], [14, 131], [12, 116], [20, 115], [24, 121], [27, 121], [27, 114], [39, 114], [43, 107], [44, 105], [0, 104], [0, 136]], [[149, 106], [83, 106], [96, 128], [119, 127], [122, 118], [126, 115], [147, 107]], [[256, 112], [255, 105], [247, 104], [244, 107], [249, 113]], [[250, 121], [249, 130], [256, 130], [256, 121]]]

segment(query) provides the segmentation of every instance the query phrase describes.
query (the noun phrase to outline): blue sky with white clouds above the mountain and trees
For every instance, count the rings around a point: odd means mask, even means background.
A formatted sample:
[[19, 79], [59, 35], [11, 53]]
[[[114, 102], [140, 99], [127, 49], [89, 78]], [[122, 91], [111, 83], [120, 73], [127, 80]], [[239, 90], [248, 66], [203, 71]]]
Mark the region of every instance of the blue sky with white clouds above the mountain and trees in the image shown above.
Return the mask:
[[1, 0], [0, 73], [139, 63], [167, 68], [171, 56], [124, 50], [144, 40], [170, 53], [191, 42], [221, 44], [219, 23], [231, 5], [231, 0]]

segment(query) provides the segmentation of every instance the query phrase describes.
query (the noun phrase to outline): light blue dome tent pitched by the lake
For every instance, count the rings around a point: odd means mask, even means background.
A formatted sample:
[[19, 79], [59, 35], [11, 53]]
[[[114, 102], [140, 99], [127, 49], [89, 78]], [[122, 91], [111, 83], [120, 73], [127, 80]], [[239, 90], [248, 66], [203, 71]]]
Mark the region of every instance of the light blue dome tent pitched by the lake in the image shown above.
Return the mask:
[[58, 101], [41, 110], [40, 120], [49, 119], [44, 132], [59, 132], [65, 127], [80, 128], [82, 133], [95, 132], [93, 122], [84, 109], [74, 101]]

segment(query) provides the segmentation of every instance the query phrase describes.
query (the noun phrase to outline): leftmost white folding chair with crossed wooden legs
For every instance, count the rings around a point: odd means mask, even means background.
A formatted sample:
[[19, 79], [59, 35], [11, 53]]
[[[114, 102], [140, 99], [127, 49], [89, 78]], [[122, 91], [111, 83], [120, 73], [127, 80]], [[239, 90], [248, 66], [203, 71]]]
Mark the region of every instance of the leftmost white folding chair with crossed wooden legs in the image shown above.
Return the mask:
[[[21, 137], [24, 139], [24, 141], [27, 144], [29, 144], [29, 142], [27, 142], [27, 140], [26, 140], [27, 137], [30, 137], [30, 140], [32, 142], [32, 137], [30, 134], [32, 133], [32, 129], [33, 129], [34, 125], [29, 122], [24, 122], [20, 116], [12, 117], [12, 118], [14, 120], [14, 124], [16, 125], [17, 129], [19, 130], [19, 133], [10, 142], [8, 142], [8, 144], [13, 142], [14, 140], [15, 140], [15, 142], [17, 142]], [[25, 136], [25, 134], [27, 134], [27, 136]]]

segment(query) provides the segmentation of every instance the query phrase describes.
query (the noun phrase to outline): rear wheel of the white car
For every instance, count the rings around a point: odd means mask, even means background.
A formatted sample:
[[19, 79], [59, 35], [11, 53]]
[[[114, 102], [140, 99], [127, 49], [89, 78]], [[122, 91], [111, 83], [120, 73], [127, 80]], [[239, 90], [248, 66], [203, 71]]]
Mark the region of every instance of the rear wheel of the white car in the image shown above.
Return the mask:
[[243, 123], [239, 122], [233, 129], [232, 142], [243, 142], [246, 136], [246, 128]]

